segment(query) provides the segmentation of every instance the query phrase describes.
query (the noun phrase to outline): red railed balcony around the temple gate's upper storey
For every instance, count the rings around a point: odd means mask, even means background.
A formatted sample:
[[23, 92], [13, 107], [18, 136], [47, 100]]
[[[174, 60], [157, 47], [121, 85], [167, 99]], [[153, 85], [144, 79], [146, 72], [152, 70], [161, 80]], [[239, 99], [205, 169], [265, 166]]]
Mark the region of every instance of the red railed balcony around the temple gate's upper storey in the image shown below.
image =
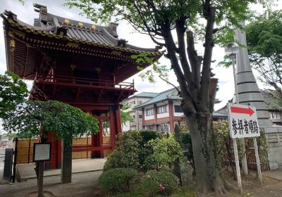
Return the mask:
[[35, 84], [51, 84], [63, 87], [84, 87], [89, 89], [115, 89], [115, 90], [133, 90], [134, 80], [130, 82], [117, 83], [110, 80], [93, 80], [82, 77], [68, 77], [63, 75], [49, 75], [47, 77], [37, 75]]

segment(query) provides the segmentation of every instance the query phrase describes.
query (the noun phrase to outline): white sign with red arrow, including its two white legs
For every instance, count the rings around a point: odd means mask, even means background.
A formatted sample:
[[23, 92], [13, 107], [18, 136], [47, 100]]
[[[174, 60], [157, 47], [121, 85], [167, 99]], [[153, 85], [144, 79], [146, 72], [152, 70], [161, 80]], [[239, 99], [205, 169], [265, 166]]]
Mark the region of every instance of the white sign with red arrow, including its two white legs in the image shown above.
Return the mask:
[[242, 192], [242, 182], [240, 177], [240, 166], [238, 159], [237, 138], [253, 137], [255, 156], [257, 161], [257, 173], [259, 175], [259, 181], [262, 184], [262, 172], [260, 170], [259, 153], [257, 151], [257, 139], [259, 134], [259, 124], [257, 122], [257, 112], [255, 107], [244, 106], [239, 104], [228, 103], [228, 120], [230, 136], [233, 139], [233, 148], [235, 155], [235, 164], [237, 171], [238, 187]]

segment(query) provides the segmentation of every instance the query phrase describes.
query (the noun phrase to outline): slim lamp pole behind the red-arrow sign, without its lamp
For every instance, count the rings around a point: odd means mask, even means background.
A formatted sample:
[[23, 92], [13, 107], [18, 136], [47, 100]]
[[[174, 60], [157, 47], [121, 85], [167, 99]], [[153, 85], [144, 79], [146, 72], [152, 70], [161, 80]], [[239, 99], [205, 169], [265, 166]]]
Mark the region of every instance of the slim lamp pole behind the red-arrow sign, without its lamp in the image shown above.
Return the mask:
[[[232, 58], [232, 67], [233, 67], [233, 77], [234, 77], [234, 87], [235, 87], [236, 103], [239, 104], [237, 78], [236, 78], [236, 71], [235, 71], [235, 56], [231, 56], [231, 58]], [[247, 157], [246, 157], [246, 147], [245, 147], [245, 140], [244, 140], [244, 138], [240, 139], [240, 142], [242, 144], [242, 151], [244, 153], [243, 154], [243, 158], [242, 158], [243, 174], [247, 176], [247, 174], [248, 174], [248, 170], [247, 170]]]

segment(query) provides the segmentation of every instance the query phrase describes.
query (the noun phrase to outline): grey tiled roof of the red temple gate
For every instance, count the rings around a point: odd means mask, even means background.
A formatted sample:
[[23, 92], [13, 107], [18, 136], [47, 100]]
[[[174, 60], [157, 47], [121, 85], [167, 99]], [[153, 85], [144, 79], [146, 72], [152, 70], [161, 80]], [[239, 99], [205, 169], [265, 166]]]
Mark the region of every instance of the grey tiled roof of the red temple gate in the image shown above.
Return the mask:
[[[5, 11], [1, 17], [8, 20], [12, 26], [20, 27], [23, 31], [41, 34], [42, 36], [58, 39], [66, 38], [69, 41], [106, 46], [128, 52], [148, 52], [153, 56], [161, 55], [158, 46], [155, 49], [145, 49], [127, 44], [125, 39], [118, 39], [116, 33], [117, 23], [110, 23], [109, 26], [100, 26], [90, 23], [82, 23], [78, 20], [63, 18], [47, 12], [47, 7], [34, 4], [35, 11], [39, 12], [39, 18], [35, 18], [34, 25], [29, 25], [18, 20], [17, 15], [11, 11]], [[4, 23], [5, 25], [5, 23]]]

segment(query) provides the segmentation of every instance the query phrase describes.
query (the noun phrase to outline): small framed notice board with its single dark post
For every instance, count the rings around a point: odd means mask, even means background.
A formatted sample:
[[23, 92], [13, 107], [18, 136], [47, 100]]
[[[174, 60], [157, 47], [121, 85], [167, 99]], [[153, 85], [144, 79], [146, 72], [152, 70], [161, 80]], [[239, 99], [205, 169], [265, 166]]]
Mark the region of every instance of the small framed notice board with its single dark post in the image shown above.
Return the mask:
[[44, 161], [51, 159], [51, 143], [35, 143], [33, 146], [33, 161], [39, 163], [37, 180], [38, 197], [43, 196]]

